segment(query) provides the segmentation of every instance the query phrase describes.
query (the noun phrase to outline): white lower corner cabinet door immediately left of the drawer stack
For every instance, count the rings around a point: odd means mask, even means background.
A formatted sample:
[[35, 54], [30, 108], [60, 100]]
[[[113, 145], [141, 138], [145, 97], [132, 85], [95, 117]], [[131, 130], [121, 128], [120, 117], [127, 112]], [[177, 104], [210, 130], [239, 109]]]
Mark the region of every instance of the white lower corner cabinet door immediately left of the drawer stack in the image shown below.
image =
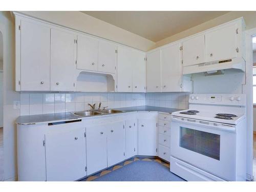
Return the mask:
[[155, 120], [138, 119], [138, 155], [157, 156], [158, 129]]

